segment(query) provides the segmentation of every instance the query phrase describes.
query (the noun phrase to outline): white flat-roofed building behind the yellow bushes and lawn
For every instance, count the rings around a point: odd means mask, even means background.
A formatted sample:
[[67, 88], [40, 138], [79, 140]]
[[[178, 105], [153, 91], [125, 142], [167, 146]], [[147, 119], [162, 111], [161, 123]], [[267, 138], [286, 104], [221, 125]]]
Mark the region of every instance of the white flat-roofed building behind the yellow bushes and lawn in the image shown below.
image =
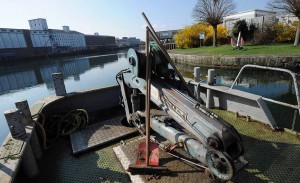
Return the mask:
[[252, 22], [258, 25], [262, 25], [265, 22], [275, 22], [276, 12], [254, 9], [231, 14], [223, 17], [223, 26], [228, 30], [232, 30], [234, 24], [239, 20], [246, 20], [246, 22], [248, 23]]

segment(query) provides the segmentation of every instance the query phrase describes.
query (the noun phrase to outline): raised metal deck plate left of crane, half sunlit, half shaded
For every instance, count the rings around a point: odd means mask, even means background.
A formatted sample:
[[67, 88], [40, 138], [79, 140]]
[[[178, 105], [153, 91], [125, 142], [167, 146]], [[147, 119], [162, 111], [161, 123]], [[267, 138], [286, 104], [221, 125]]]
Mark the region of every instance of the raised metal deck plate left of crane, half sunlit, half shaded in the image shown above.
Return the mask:
[[123, 117], [116, 117], [93, 124], [72, 133], [70, 137], [73, 154], [87, 151], [88, 149], [135, 133], [135, 128], [125, 127], [121, 124]]

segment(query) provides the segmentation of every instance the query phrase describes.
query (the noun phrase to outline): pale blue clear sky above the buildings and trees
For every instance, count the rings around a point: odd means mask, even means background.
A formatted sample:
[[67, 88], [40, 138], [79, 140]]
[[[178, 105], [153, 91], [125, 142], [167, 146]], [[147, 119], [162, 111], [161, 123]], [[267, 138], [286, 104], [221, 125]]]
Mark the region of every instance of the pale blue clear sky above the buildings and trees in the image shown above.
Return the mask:
[[[268, 0], [235, 0], [235, 12], [266, 9]], [[47, 19], [48, 28], [70, 26], [84, 34], [145, 40], [145, 12], [156, 31], [195, 23], [197, 0], [0, 0], [0, 28], [29, 29], [28, 20]]]

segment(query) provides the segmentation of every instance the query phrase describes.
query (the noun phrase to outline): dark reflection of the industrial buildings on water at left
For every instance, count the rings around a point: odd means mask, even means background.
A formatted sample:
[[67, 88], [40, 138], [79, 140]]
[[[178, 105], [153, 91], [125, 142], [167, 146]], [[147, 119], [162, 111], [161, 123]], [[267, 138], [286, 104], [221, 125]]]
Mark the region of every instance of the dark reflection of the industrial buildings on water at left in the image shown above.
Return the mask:
[[[20, 64], [18, 67], [3, 66], [0, 74], [0, 94], [10, 93], [26, 87], [33, 87], [45, 83], [49, 90], [53, 90], [51, 74], [61, 72], [64, 78], [73, 77], [74, 81], [80, 81], [80, 75], [91, 68], [104, 69], [107, 63], [117, 62], [119, 58], [125, 58], [125, 54], [111, 54], [104, 56], [84, 57], [69, 60], [49, 60], [49, 62], [32, 62]], [[32, 67], [33, 65], [33, 67]]]

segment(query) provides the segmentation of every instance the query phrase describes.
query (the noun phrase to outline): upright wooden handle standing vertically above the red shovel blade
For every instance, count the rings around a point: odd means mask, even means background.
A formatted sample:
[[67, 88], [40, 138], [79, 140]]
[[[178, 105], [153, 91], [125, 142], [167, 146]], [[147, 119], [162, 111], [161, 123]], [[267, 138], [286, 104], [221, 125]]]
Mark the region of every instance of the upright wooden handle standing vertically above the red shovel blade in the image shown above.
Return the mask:
[[149, 166], [150, 143], [150, 95], [151, 95], [151, 60], [149, 54], [149, 28], [146, 30], [146, 166]]

